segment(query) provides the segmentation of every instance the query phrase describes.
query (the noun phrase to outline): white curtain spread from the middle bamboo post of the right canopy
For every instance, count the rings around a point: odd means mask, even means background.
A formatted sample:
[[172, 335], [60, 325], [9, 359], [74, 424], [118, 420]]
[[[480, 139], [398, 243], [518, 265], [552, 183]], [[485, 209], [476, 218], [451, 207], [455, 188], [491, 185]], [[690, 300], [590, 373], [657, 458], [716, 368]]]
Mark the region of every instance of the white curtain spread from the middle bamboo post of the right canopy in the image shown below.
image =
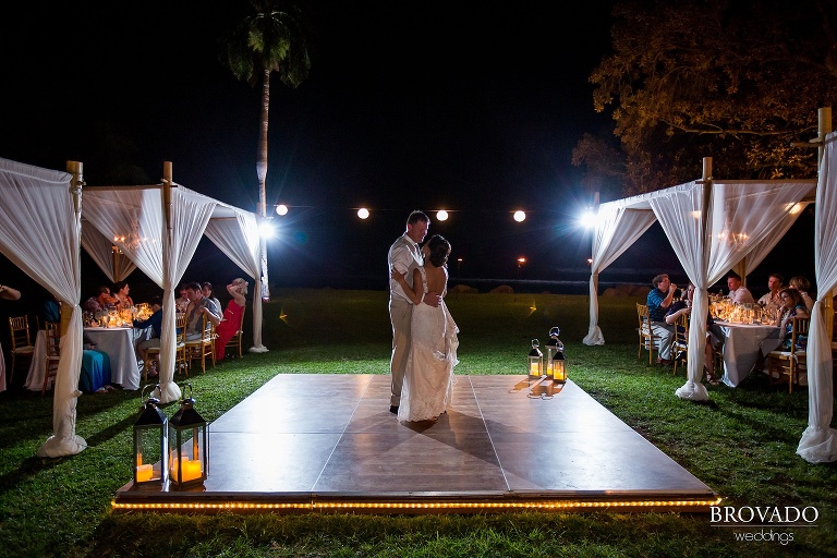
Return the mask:
[[705, 401], [701, 384], [708, 315], [707, 289], [752, 247], [777, 234], [798, 202], [810, 195], [811, 181], [690, 182], [659, 191], [648, 199], [675, 254], [695, 287], [689, 322], [687, 383], [682, 399]]

